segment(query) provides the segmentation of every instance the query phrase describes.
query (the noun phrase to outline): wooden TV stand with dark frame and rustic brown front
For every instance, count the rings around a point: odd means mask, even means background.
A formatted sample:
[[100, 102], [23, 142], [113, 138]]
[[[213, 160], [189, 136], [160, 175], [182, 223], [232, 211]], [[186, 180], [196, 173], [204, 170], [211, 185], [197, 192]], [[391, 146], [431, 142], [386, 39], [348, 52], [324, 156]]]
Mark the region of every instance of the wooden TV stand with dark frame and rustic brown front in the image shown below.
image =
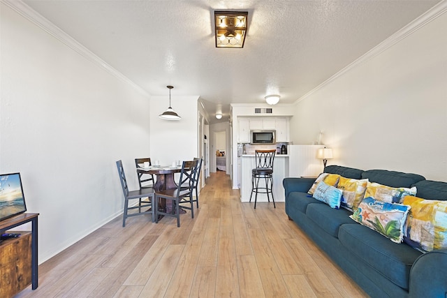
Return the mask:
[[0, 263], [3, 265], [0, 269], [0, 297], [13, 297], [27, 288], [30, 283], [33, 290], [36, 290], [38, 286], [38, 215], [38, 213], [24, 213], [0, 221], [0, 234], [31, 222], [31, 233], [20, 232], [20, 237], [4, 240], [0, 243]]

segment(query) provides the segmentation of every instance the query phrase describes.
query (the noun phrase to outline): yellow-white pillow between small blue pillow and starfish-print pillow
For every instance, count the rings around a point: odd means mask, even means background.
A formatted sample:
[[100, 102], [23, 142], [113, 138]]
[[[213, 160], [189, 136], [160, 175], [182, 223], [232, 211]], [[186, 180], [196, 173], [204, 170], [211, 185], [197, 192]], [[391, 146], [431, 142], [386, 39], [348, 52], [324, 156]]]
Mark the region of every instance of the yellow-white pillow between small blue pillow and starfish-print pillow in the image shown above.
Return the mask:
[[358, 204], [362, 202], [365, 195], [368, 179], [350, 179], [340, 177], [337, 188], [342, 191], [342, 202], [340, 206], [344, 209], [356, 211]]

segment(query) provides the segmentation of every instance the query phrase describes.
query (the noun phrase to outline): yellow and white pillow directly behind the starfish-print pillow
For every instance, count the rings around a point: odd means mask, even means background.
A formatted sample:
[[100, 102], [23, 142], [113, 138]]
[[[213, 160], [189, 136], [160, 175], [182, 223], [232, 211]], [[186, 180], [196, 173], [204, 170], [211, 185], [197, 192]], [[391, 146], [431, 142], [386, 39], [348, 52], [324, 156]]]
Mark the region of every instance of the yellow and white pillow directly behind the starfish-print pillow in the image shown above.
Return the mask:
[[416, 186], [412, 188], [390, 187], [375, 182], [368, 182], [365, 198], [372, 197], [387, 203], [400, 203], [406, 195], [416, 195]]

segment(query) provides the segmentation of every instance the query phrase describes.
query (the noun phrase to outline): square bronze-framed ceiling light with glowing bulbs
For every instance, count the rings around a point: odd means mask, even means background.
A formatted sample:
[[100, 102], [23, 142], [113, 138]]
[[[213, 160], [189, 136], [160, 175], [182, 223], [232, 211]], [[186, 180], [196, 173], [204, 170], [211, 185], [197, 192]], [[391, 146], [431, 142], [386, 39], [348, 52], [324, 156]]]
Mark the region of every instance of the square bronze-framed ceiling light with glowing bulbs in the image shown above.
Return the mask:
[[247, 11], [214, 11], [216, 47], [244, 47]]

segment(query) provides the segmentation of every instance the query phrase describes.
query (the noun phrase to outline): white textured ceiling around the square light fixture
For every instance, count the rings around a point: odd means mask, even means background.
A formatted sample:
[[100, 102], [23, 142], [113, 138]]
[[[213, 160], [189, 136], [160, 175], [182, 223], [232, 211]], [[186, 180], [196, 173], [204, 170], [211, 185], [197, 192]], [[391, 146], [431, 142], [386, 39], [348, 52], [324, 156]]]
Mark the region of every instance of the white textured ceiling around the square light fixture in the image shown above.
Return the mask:
[[[438, 2], [24, 0], [148, 94], [170, 84], [226, 116], [268, 94], [293, 103]], [[249, 12], [244, 48], [215, 47], [214, 10]]]

